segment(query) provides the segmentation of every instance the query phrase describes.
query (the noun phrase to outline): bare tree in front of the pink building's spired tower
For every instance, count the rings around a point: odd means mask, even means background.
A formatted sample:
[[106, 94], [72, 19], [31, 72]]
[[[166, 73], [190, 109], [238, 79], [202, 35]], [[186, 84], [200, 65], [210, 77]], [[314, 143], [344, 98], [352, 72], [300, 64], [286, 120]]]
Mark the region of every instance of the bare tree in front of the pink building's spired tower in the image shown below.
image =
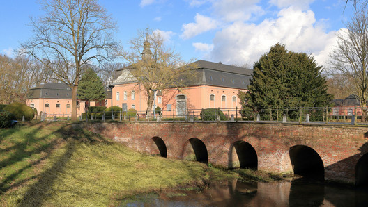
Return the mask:
[[148, 115], [151, 114], [156, 91], [182, 88], [196, 76], [195, 65], [185, 63], [179, 53], [167, 47], [158, 31], [138, 31], [137, 37], [128, 44], [130, 51], [120, 55], [131, 65], [130, 73], [147, 94]]

